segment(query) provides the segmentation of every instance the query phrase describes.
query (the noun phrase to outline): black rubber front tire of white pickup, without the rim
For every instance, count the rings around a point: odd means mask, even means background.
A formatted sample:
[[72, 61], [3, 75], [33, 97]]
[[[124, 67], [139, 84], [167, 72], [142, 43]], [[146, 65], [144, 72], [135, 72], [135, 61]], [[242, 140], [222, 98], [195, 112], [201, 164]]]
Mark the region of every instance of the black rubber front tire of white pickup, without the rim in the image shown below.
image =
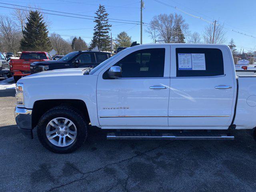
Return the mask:
[[[54, 118], [68, 118], [74, 122], [77, 129], [77, 136], [74, 142], [68, 146], [60, 147], [52, 144], [46, 137], [46, 126]], [[37, 135], [41, 144], [54, 153], [71, 153], [77, 150], [87, 138], [88, 126], [81, 112], [70, 106], [57, 106], [43, 114], [38, 122]]]

